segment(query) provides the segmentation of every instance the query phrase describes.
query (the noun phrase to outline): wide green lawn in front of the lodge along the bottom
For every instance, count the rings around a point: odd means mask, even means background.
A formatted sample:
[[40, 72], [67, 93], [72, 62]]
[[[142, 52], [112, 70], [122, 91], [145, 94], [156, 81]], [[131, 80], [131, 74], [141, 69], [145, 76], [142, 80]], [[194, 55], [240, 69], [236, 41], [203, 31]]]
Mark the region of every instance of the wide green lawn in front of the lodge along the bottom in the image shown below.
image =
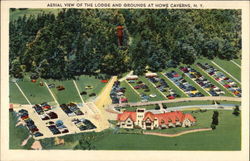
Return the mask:
[[[196, 114], [200, 119], [204, 119], [199, 123], [200, 127], [210, 125], [211, 114], [212, 111]], [[109, 129], [100, 133], [65, 136], [65, 141], [68, 141], [65, 146], [50, 144], [46, 147], [45, 143], [51, 141], [45, 140], [44, 146], [45, 149], [73, 149], [79, 139], [92, 138], [92, 145], [96, 150], [240, 150], [240, 129], [240, 116], [232, 115], [232, 111], [219, 111], [219, 125], [213, 131], [168, 138], [143, 134], [116, 134], [114, 130]]]

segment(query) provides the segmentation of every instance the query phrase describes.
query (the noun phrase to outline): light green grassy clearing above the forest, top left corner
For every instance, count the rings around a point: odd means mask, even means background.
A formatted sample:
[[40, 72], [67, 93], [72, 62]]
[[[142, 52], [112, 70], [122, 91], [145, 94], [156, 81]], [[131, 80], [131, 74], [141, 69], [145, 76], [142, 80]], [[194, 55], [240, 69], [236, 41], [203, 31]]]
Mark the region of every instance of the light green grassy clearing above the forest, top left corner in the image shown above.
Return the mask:
[[26, 10], [19, 10], [16, 9], [15, 11], [11, 11], [10, 10], [10, 20], [16, 20], [18, 19], [18, 17], [22, 17], [24, 15], [26, 15], [27, 17], [31, 16], [31, 15], [38, 15], [41, 13], [54, 13], [55, 15], [58, 14], [58, 12], [61, 9], [26, 9]]

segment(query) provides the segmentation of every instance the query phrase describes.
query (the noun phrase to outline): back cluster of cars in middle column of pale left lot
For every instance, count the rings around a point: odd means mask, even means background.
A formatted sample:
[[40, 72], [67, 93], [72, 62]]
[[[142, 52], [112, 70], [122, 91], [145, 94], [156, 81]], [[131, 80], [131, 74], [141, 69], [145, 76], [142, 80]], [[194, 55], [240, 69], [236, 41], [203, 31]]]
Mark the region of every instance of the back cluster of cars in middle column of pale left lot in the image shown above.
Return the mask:
[[58, 115], [55, 112], [51, 111], [51, 106], [46, 102], [34, 105], [33, 109], [38, 113], [42, 120], [51, 120], [58, 118]]

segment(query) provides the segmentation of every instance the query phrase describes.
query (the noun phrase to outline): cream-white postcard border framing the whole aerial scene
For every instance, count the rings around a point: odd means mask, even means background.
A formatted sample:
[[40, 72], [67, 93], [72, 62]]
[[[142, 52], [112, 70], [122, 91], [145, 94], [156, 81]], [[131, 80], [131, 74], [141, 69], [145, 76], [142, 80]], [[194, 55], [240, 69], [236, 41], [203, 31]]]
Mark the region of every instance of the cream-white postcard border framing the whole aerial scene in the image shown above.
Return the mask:
[[[71, 2], [72, 1], [68, 1]], [[83, 1], [75, 1], [83, 2]], [[86, 2], [86, 1], [84, 1]], [[97, 2], [97, 1], [95, 1]], [[104, 2], [104, 1], [99, 1]], [[112, 1], [106, 1], [112, 2]], [[115, 1], [117, 3], [117, 1]], [[121, 1], [126, 3], [126, 1]], [[8, 17], [9, 7], [46, 8], [49, 1], [2, 1], [1, 2], [1, 160], [199, 160], [199, 161], [246, 161], [249, 158], [249, 2], [248, 1], [158, 1], [159, 3], [197, 3], [199, 9], [242, 9], [242, 150], [241, 151], [73, 151], [73, 150], [9, 150], [8, 120]], [[55, 3], [55, 2], [54, 2]], [[60, 2], [66, 3], [66, 1]], [[152, 3], [127, 1], [127, 3]], [[154, 3], [157, 3], [154, 2]], [[232, 127], [233, 128], [233, 127]], [[167, 145], [166, 145], [167, 146]]]

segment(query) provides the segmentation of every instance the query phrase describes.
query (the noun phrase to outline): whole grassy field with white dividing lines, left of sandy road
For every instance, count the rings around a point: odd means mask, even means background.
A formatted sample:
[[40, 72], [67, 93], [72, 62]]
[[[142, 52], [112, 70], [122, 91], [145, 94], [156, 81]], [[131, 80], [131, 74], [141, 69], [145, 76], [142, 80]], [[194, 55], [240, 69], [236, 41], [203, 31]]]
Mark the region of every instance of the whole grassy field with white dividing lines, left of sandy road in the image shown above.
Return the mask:
[[[43, 86], [40, 85], [40, 82], [43, 83]], [[77, 92], [73, 80], [56, 81], [38, 79], [35, 83], [32, 83], [30, 78], [26, 76], [23, 80], [18, 81], [17, 84], [20, 86], [23, 93], [31, 102], [31, 104], [39, 104], [42, 102], [54, 102], [54, 99], [50, 94], [48, 88], [46, 87], [45, 82], [48, 85], [53, 84], [55, 86], [53, 88], [50, 88], [50, 90], [59, 104], [70, 102], [81, 103], [80, 96]], [[77, 84], [79, 92], [87, 92], [86, 95], [81, 96], [84, 101], [88, 100], [89, 98], [93, 98], [89, 96], [90, 93], [98, 94], [105, 86], [105, 83], [101, 83], [99, 79], [89, 76], [81, 76], [79, 80], [76, 80], [75, 82]], [[93, 88], [86, 90], [85, 86], [88, 85], [92, 86]], [[56, 88], [57, 86], [64, 86], [65, 89], [62, 91], [58, 91]], [[23, 94], [13, 82], [10, 82], [10, 102], [18, 104], [28, 104]]]

